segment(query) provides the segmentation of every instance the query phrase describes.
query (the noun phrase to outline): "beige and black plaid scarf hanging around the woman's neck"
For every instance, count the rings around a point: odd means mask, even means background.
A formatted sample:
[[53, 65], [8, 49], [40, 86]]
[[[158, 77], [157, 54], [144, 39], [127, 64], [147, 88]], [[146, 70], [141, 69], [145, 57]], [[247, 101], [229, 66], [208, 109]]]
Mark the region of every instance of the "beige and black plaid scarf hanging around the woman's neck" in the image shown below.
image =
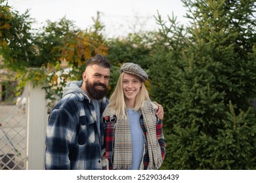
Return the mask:
[[[161, 149], [156, 138], [156, 115], [151, 101], [144, 101], [140, 108], [143, 122], [146, 127], [146, 140], [148, 143], [149, 163], [148, 169], [159, 169], [163, 159]], [[130, 169], [132, 158], [131, 131], [127, 110], [124, 118], [116, 123], [114, 169]]]

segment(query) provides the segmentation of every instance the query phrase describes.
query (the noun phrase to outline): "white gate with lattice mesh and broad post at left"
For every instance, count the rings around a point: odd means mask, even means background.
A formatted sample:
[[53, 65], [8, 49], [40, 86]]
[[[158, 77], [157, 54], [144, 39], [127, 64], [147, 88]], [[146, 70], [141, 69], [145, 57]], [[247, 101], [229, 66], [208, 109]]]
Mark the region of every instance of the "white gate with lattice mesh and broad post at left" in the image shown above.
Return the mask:
[[47, 117], [45, 90], [28, 82], [20, 101], [0, 119], [0, 169], [44, 169]]

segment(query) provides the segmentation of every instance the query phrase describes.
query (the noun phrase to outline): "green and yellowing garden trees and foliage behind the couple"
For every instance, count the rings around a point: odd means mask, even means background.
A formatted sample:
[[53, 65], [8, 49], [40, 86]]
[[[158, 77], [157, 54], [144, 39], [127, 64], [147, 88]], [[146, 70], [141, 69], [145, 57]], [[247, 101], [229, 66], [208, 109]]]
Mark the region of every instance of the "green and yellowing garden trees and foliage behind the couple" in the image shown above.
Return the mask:
[[55, 101], [66, 82], [81, 79], [88, 58], [103, 54], [112, 61], [109, 96], [121, 63], [139, 63], [152, 100], [165, 110], [161, 169], [255, 169], [254, 0], [182, 0], [188, 25], [157, 14], [158, 31], [114, 39], [104, 36], [99, 15], [86, 30], [62, 18], [35, 31], [28, 12], [0, 2], [1, 67], [16, 72], [20, 87], [33, 80]]

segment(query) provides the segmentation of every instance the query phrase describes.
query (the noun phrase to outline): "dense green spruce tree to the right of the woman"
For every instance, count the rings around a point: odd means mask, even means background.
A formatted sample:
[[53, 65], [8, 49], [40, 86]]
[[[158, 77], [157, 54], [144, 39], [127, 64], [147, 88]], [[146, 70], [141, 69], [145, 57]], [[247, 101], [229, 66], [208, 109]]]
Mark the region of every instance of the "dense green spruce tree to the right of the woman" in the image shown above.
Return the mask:
[[255, 169], [255, 1], [182, 2], [191, 20], [184, 47], [158, 70], [171, 71], [162, 81], [172, 86], [158, 88], [169, 99], [164, 168]]

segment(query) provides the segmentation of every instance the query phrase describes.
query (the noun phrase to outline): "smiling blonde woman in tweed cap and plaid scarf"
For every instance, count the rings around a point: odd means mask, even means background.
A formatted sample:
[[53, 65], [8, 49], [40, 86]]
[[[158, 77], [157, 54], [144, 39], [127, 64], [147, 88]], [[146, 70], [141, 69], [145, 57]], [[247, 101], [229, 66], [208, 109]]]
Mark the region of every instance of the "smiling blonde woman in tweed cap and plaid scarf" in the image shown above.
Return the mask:
[[162, 121], [148, 95], [146, 72], [124, 63], [103, 113], [108, 169], [159, 169], [165, 158]]

